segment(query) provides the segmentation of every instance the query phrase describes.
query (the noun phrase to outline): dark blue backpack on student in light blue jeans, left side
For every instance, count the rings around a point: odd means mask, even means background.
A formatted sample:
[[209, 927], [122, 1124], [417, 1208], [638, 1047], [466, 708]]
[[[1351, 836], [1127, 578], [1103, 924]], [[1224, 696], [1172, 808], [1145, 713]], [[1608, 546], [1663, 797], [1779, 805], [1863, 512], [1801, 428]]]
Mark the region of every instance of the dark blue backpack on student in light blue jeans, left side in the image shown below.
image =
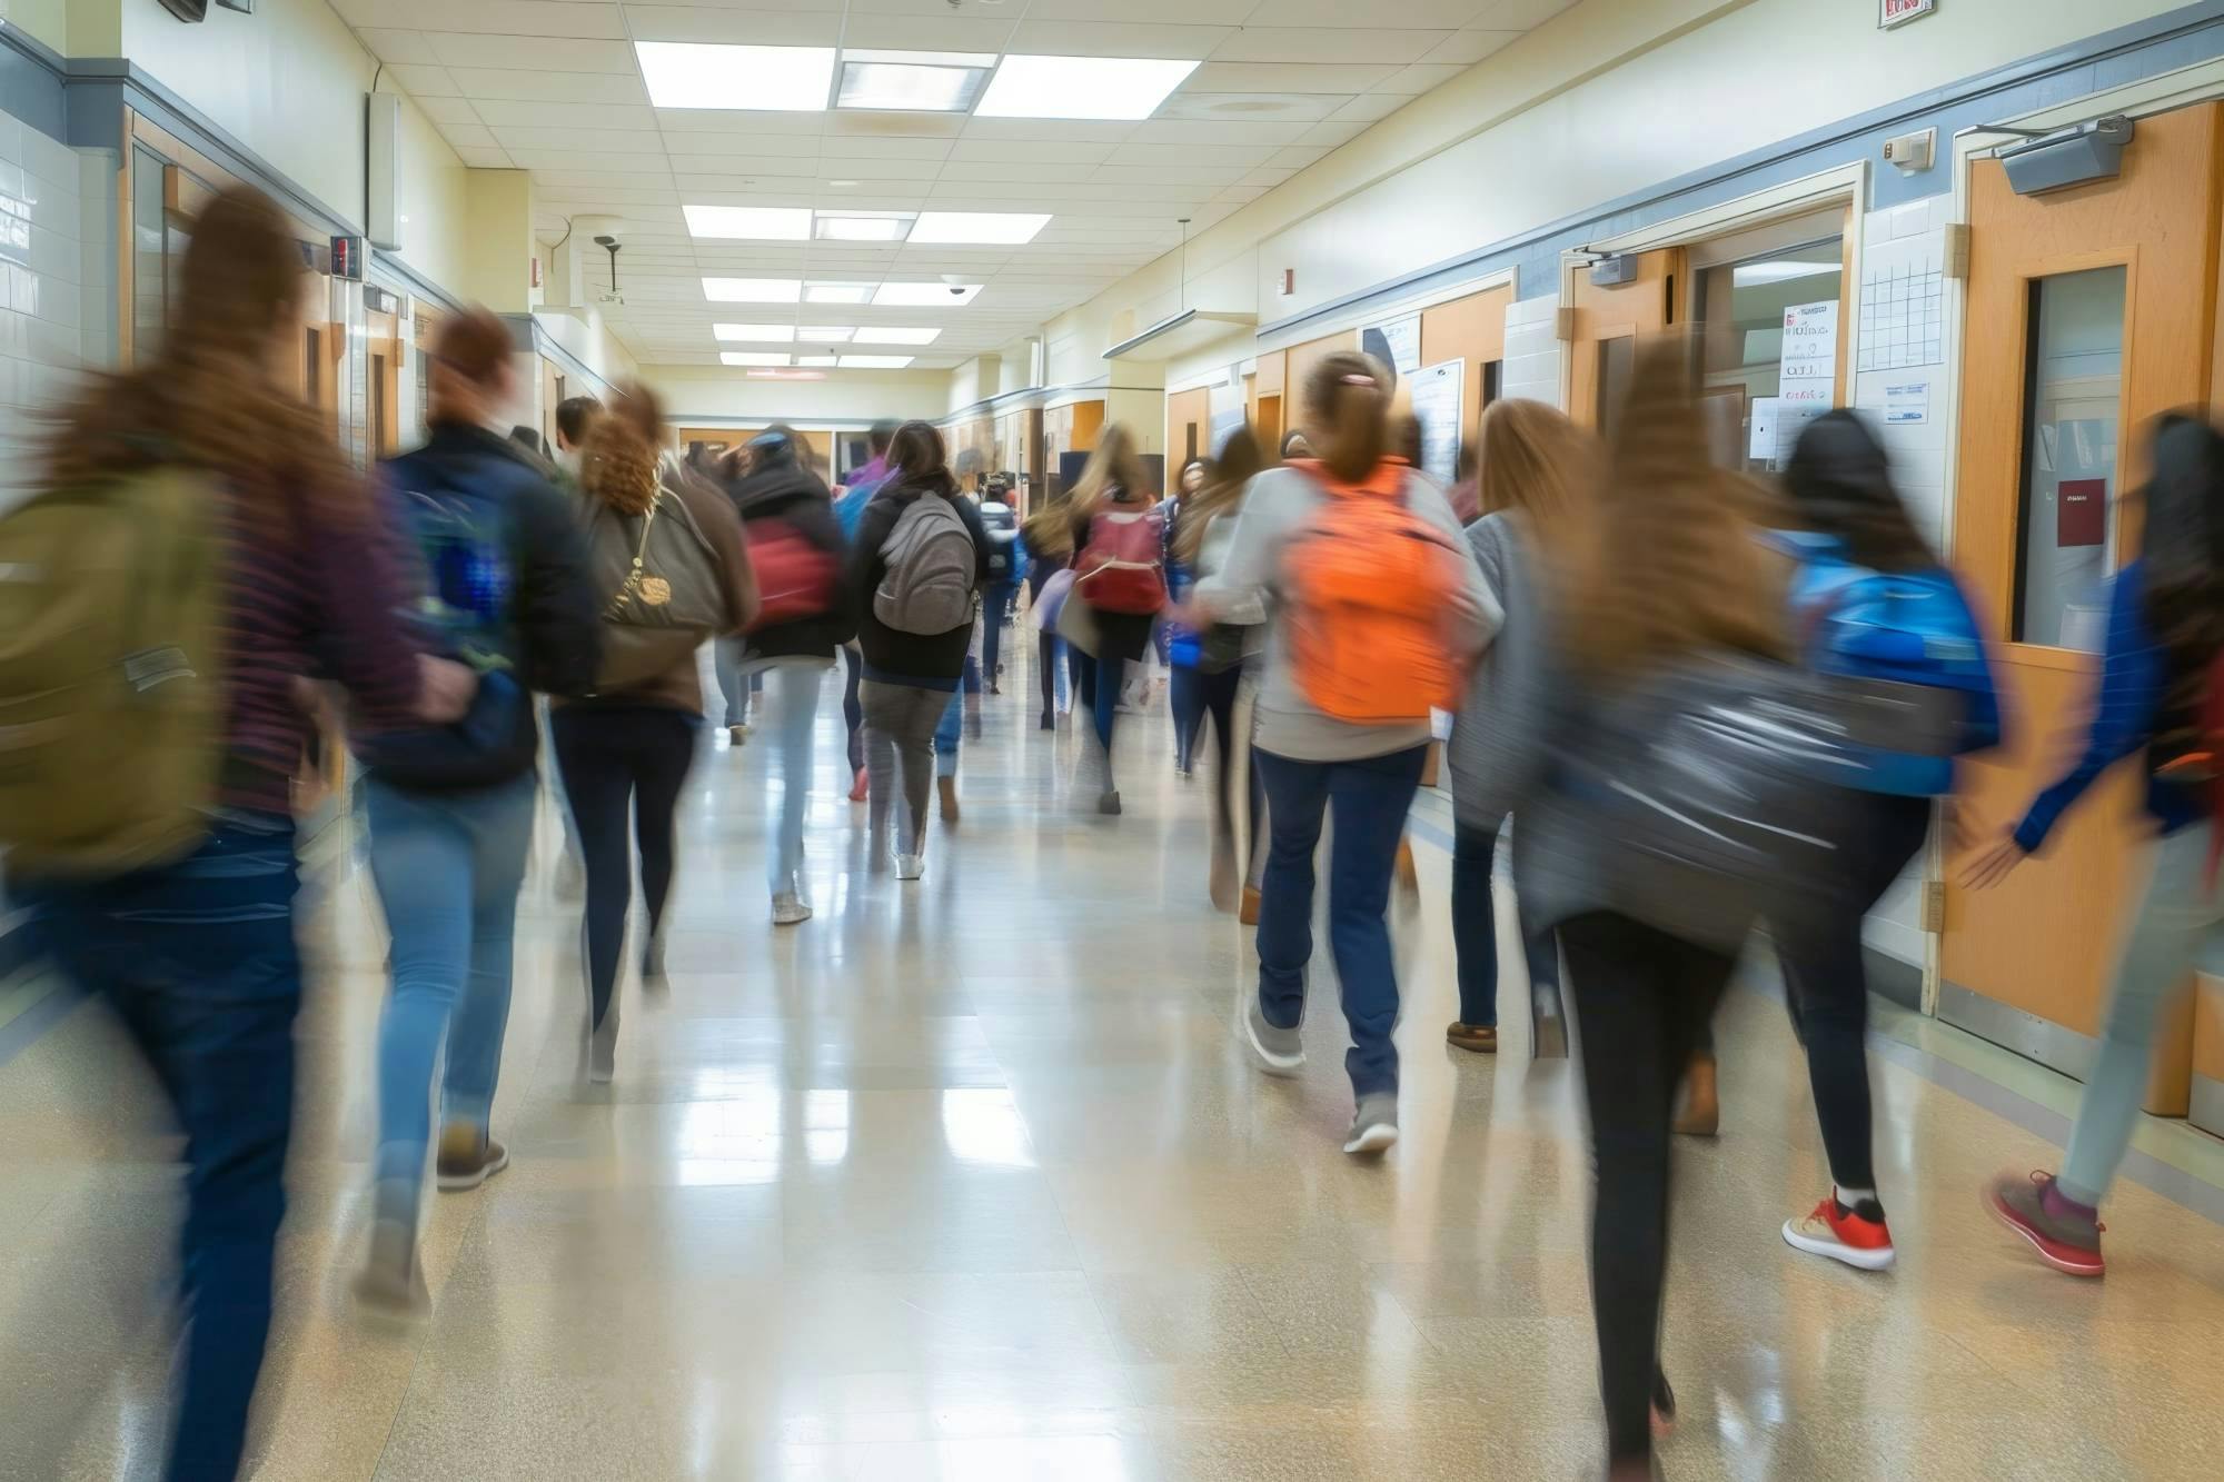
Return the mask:
[[385, 467], [403, 532], [423, 561], [409, 612], [425, 648], [478, 670], [471, 710], [454, 725], [360, 737], [356, 757], [405, 788], [476, 788], [529, 770], [538, 743], [532, 694], [516, 676], [518, 534], [512, 498], [540, 474], [507, 458], [405, 454]]

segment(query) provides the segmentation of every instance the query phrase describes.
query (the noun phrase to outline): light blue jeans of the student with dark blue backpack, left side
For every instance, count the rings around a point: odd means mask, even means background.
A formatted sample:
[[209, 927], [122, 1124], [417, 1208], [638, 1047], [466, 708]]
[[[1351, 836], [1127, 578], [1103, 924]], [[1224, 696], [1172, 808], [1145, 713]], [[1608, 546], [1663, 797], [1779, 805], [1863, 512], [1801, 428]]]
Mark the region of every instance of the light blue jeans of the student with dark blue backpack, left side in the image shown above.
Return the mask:
[[443, 1122], [487, 1126], [509, 1021], [509, 946], [534, 837], [532, 772], [471, 792], [365, 783], [371, 877], [394, 937], [378, 1026], [380, 1217], [416, 1226], [431, 1142], [431, 1068], [447, 1044]]

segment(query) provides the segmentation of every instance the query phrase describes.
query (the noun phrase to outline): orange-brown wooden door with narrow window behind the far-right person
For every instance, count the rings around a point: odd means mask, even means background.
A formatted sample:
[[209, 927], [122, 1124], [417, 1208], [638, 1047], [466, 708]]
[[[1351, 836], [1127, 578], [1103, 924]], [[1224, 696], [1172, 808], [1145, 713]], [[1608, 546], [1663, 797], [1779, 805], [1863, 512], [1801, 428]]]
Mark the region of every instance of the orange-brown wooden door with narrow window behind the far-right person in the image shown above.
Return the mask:
[[[2117, 180], [2017, 196], [1970, 171], [1955, 561], [1995, 634], [2008, 745], [1964, 808], [2013, 821], [2082, 743], [2077, 652], [2122, 565], [2146, 423], [2206, 401], [2224, 109], [2139, 120]], [[2066, 305], [2079, 305], [2075, 336]], [[2075, 478], [2071, 476], [2075, 474]], [[1939, 1015], [2071, 1075], [2091, 1061], [2122, 908], [2139, 886], [2142, 781], [2115, 768], [2006, 883], [1946, 886]], [[2191, 1004], [2166, 1026], [2148, 1108], [2184, 1113]]]

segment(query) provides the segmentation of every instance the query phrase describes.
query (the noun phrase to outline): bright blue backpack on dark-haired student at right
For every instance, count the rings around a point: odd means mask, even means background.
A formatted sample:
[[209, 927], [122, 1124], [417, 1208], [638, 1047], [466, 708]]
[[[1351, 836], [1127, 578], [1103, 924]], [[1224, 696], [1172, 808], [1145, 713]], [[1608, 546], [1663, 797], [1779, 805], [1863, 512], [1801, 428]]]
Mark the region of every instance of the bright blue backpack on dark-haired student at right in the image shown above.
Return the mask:
[[1999, 741], [1984, 634], [1959, 583], [1944, 570], [1855, 565], [1833, 536], [1775, 543], [1799, 561], [1790, 603], [1808, 665], [1841, 681], [1846, 714], [1857, 717], [1835, 781], [1897, 797], [1953, 792], [1953, 759]]

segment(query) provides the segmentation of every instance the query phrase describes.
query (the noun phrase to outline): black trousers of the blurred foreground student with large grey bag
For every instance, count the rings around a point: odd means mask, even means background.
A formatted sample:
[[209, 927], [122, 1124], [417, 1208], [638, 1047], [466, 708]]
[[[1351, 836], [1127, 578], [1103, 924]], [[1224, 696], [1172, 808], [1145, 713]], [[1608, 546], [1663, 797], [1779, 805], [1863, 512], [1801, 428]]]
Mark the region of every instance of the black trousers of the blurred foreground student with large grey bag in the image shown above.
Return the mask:
[[1610, 912], [1563, 921], [1559, 941], [1590, 1104], [1590, 1302], [1606, 1453], [1626, 1462], [1652, 1455], [1675, 1095], [1737, 959]]

